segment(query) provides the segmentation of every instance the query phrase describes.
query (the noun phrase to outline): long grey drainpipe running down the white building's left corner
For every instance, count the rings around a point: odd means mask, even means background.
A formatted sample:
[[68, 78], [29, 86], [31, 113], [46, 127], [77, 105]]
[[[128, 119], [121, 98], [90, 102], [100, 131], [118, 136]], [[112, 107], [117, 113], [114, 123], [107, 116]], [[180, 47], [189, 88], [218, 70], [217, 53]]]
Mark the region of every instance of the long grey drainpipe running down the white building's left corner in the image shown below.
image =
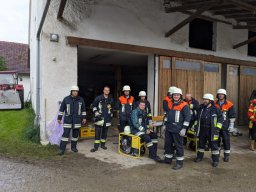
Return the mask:
[[41, 81], [41, 75], [40, 75], [40, 35], [41, 31], [44, 25], [44, 21], [48, 12], [48, 9], [50, 7], [51, 0], [47, 0], [44, 8], [43, 15], [41, 17], [41, 21], [37, 30], [36, 34], [36, 117], [35, 117], [35, 126], [40, 126], [40, 81]]

